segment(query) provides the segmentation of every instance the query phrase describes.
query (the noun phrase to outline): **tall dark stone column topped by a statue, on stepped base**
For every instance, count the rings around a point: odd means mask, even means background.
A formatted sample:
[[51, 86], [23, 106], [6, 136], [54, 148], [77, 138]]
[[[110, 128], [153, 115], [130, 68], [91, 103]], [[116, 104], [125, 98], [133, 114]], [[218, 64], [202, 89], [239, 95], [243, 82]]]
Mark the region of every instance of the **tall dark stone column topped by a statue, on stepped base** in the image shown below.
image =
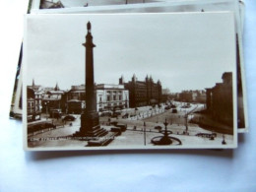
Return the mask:
[[88, 140], [94, 137], [100, 137], [107, 132], [100, 128], [99, 117], [96, 112], [96, 89], [94, 77], [94, 47], [93, 35], [91, 33], [91, 23], [87, 24], [88, 33], [86, 42], [83, 45], [86, 47], [86, 108], [81, 114], [81, 128], [77, 135], [87, 137]]

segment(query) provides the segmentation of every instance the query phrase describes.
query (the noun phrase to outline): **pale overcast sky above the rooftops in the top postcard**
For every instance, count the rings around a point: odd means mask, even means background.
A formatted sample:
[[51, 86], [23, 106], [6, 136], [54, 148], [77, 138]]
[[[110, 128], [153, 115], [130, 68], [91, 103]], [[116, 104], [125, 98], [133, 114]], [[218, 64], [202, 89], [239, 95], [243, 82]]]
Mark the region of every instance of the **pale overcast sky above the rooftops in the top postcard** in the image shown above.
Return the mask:
[[86, 25], [92, 23], [96, 84], [152, 75], [171, 92], [202, 90], [235, 70], [233, 16], [214, 14], [30, 15], [24, 81], [85, 84]]

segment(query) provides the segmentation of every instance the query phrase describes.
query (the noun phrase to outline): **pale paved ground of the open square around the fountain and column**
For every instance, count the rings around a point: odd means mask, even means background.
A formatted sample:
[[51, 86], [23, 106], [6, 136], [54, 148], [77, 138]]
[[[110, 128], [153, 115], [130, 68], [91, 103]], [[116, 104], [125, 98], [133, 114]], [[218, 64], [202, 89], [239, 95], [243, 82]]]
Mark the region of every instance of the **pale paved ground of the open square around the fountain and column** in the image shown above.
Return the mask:
[[[160, 112], [159, 114], [155, 114], [153, 116], [147, 117], [145, 119], [132, 120], [132, 119], [111, 119], [118, 121], [119, 123], [126, 124], [127, 130], [122, 132], [120, 136], [115, 137], [115, 139], [108, 144], [110, 148], [133, 148], [133, 147], [142, 147], [154, 146], [151, 143], [151, 140], [154, 137], [162, 136], [163, 134], [159, 132], [159, 130], [155, 129], [156, 126], [160, 126], [161, 130], [164, 129], [163, 122], [166, 119], [168, 123], [166, 128], [168, 131], [171, 131], [172, 134], [169, 135], [171, 137], [178, 138], [182, 142], [183, 147], [191, 148], [195, 147], [209, 147], [216, 145], [222, 145], [223, 137], [225, 139], [226, 144], [233, 144], [233, 136], [232, 135], [224, 135], [223, 133], [216, 132], [216, 137], [214, 140], [210, 140], [207, 137], [199, 137], [196, 136], [198, 133], [204, 134], [212, 134], [211, 130], [206, 130], [198, 126], [197, 124], [188, 124], [188, 134], [183, 134], [185, 127], [185, 118], [184, 116], [189, 113], [189, 111], [197, 108], [196, 106], [191, 106], [190, 108], [181, 109], [177, 108], [178, 113], [172, 113], [171, 110], [167, 110], [164, 112]], [[146, 123], [146, 129], [144, 132], [144, 122]], [[135, 129], [136, 126], [136, 129]], [[111, 127], [107, 125], [101, 125], [102, 128], [110, 131]], [[70, 125], [67, 122], [65, 125], [58, 126], [57, 129], [48, 130], [42, 133], [37, 133], [36, 135], [30, 137], [29, 147], [35, 148], [82, 148], [85, 149], [88, 142], [74, 140], [72, 138], [64, 139], [60, 137], [72, 135], [80, 129], [80, 116], [78, 115], [76, 120], [72, 122]], [[145, 135], [144, 135], [145, 134]]]

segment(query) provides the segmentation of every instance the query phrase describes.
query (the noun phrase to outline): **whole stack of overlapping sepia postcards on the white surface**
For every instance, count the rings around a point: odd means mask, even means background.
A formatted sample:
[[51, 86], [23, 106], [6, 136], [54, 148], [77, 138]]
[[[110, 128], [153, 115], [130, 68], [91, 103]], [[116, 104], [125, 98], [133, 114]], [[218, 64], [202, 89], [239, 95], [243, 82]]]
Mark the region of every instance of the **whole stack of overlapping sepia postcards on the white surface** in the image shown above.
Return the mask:
[[24, 149], [233, 149], [238, 0], [32, 0], [10, 116]]

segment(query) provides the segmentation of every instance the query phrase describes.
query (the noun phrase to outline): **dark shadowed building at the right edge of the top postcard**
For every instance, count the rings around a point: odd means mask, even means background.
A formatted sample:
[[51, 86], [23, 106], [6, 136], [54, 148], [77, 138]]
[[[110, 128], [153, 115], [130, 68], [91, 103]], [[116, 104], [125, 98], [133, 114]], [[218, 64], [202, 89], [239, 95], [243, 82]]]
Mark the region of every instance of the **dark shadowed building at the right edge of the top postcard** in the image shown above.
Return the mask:
[[225, 72], [222, 79], [223, 83], [206, 89], [207, 111], [215, 120], [233, 126], [232, 73]]

